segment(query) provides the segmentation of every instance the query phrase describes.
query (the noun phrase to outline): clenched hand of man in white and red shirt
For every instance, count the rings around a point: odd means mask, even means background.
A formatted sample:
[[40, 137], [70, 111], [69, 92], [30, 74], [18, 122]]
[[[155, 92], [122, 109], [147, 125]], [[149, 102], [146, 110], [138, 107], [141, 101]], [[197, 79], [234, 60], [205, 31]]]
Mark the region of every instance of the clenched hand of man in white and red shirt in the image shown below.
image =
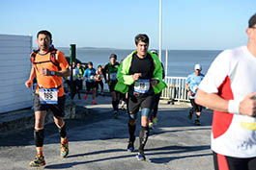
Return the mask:
[[240, 103], [240, 112], [243, 115], [256, 116], [256, 92], [249, 93]]

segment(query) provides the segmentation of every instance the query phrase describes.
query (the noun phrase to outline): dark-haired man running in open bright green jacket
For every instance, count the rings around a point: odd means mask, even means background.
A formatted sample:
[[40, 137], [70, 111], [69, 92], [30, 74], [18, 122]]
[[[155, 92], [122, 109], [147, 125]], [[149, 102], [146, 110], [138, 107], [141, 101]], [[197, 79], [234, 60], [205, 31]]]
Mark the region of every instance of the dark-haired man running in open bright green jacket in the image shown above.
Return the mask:
[[133, 51], [121, 63], [117, 73], [115, 90], [128, 92], [128, 152], [134, 150], [136, 118], [141, 108], [141, 130], [138, 160], [145, 160], [144, 147], [149, 136], [149, 118], [155, 103], [155, 94], [159, 93], [165, 83], [162, 81], [161, 62], [155, 54], [148, 52], [149, 37], [135, 36], [136, 51]]

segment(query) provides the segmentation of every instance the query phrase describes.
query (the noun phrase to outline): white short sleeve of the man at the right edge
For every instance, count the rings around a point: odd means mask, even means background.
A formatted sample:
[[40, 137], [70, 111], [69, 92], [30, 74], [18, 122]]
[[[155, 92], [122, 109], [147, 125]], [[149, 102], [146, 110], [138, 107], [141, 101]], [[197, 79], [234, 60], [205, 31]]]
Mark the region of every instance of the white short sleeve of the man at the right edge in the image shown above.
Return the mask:
[[207, 93], [217, 93], [218, 87], [229, 74], [231, 55], [229, 51], [220, 53], [211, 64], [199, 88]]

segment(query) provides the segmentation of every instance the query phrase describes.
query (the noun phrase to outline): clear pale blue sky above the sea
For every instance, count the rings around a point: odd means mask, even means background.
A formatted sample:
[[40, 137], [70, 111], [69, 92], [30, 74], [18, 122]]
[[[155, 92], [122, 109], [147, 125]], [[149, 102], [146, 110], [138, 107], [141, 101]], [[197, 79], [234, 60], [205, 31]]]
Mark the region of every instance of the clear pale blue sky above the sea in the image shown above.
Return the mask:
[[[158, 48], [158, 0], [8, 0], [0, 6], [0, 34], [46, 29], [55, 46], [134, 48], [146, 33]], [[162, 48], [222, 50], [244, 45], [255, 0], [162, 0]]]

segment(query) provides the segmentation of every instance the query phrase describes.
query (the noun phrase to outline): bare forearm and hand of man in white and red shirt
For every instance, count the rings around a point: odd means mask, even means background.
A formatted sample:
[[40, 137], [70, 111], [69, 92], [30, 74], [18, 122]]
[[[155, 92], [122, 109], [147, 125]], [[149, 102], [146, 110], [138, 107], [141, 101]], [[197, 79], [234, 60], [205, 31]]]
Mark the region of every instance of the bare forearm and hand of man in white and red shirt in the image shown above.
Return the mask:
[[[234, 102], [234, 100], [225, 100], [216, 93], [207, 93], [198, 89], [195, 96], [195, 103], [202, 105], [206, 108], [229, 112], [231, 109], [238, 108], [239, 112], [243, 115], [255, 116], [256, 115], [256, 92], [247, 94], [242, 102]], [[234, 112], [231, 112], [234, 113]]]

